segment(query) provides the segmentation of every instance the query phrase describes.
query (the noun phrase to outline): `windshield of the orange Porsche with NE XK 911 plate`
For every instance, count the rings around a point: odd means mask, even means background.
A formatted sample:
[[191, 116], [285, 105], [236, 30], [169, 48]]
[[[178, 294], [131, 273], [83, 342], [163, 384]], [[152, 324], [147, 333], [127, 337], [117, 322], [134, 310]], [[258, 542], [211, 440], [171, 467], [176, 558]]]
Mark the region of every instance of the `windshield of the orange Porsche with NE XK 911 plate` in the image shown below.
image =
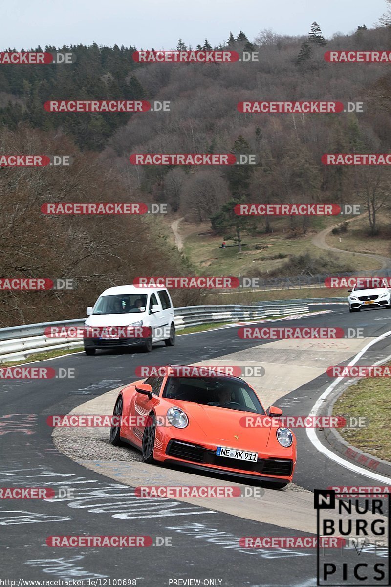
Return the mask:
[[266, 415], [251, 387], [234, 377], [168, 377], [162, 397]]

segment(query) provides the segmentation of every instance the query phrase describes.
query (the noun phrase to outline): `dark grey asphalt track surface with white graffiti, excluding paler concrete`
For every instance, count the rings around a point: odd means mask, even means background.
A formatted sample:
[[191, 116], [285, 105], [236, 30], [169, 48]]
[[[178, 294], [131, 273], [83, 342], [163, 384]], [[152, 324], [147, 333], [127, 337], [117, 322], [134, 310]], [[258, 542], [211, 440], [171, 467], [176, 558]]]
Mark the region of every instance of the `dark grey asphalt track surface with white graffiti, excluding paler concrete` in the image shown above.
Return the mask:
[[[359, 326], [370, 337], [391, 330], [391, 311], [349, 314], [345, 306], [327, 308], [332, 312], [281, 324]], [[95, 585], [103, 586], [113, 585], [114, 579], [135, 579], [134, 584], [151, 587], [186, 585], [178, 582], [179, 579], [199, 579], [200, 585], [316, 585], [316, 549], [245, 549], [239, 545], [243, 536], [291, 536], [301, 532], [175, 500], [152, 503], [148, 498], [135, 497], [128, 485], [81, 467], [59, 453], [53, 445], [52, 428], [46, 424], [50, 414], [66, 414], [86, 400], [134, 380], [136, 366], [192, 364], [261, 343], [238, 338], [237, 327], [216, 329], [178, 336], [174, 348], [157, 345], [152, 353], [106, 351], [93, 357], [78, 353], [36, 363], [74, 368], [75, 379], [3, 380], [0, 487], [66, 486], [74, 488], [74, 497], [52, 501], [1, 500], [1, 578], [96, 579]], [[389, 340], [382, 340], [361, 363], [370, 364], [390, 353]], [[329, 383], [329, 377], [324, 374], [284, 396], [281, 400], [284, 415], [308, 414]], [[295, 433], [298, 463], [294, 483], [299, 487], [313, 491], [330, 485], [376, 485], [366, 475], [353, 473], [319, 453], [304, 429]], [[162, 471], [164, 474], [164, 468]], [[280, 512], [275, 513], [277, 520]], [[147, 548], [46, 545], [46, 537], [50, 535], [86, 534], [148, 535], [154, 542], [156, 537], [170, 537], [172, 545]], [[369, 561], [371, 556], [369, 551], [362, 552], [361, 561], [367, 558]], [[386, 560], [385, 553], [379, 556]], [[341, 561], [340, 557], [336, 564], [340, 565]], [[212, 579], [214, 583], [210, 582]]]

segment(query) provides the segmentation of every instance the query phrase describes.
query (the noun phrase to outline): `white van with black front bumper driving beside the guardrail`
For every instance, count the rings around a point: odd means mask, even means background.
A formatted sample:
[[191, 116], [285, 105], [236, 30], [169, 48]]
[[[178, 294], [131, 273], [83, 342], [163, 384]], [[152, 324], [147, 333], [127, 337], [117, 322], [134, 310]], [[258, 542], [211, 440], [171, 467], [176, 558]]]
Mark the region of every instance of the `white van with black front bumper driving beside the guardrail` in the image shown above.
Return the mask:
[[[164, 340], [166, 346], [175, 344], [174, 308], [165, 288], [119, 285], [105, 289], [94, 307], [87, 308], [87, 316], [84, 325], [96, 330], [89, 330], [90, 335], [84, 336], [86, 355], [94, 355], [96, 349], [121, 349], [134, 345], [141, 345], [149, 353], [155, 342]], [[128, 326], [142, 327], [143, 333], [145, 328], [150, 328], [152, 336], [126, 338], [118, 335], [120, 327]], [[110, 329], [113, 335], [110, 335]], [[101, 331], [103, 336], [94, 335], [94, 332], [99, 334]]]

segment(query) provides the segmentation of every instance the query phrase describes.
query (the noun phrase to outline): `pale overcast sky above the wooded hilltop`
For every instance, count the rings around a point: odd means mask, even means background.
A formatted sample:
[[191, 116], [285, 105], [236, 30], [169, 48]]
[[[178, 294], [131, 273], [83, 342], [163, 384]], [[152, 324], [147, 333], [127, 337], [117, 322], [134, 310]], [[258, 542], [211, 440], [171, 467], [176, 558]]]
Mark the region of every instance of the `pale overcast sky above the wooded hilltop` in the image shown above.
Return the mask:
[[16, 0], [2, 2], [2, 49], [89, 45], [172, 49], [179, 38], [195, 48], [212, 46], [240, 29], [253, 41], [263, 29], [305, 35], [313, 21], [323, 34], [368, 28], [386, 10], [385, 0]]

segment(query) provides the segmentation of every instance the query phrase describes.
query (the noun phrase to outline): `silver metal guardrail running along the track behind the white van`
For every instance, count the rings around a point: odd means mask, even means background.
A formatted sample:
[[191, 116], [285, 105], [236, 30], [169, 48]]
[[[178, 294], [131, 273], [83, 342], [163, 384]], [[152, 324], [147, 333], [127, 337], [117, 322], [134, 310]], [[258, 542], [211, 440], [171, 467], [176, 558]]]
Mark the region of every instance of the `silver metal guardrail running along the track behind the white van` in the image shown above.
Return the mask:
[[[341, 298], [321, 298], [308, 300], [283, 300], [260, 302], [243, 306], [186, 306], [175, 308], [175, 328], [183, 330], [189, 326], [199, 326], [213, 322], [254, 321], [268, 316], [287, 316], [292, 313], [305, 313], [314, 303], [343, 302]], [[49, 326], [83, 326], [85, 319], [42, 322], [0, 328], [0, 363], [24, 360], [35, 353], [55, 349], [73, 349], [82, 346], [81, 338], [53, 338], [45, 335]]]

